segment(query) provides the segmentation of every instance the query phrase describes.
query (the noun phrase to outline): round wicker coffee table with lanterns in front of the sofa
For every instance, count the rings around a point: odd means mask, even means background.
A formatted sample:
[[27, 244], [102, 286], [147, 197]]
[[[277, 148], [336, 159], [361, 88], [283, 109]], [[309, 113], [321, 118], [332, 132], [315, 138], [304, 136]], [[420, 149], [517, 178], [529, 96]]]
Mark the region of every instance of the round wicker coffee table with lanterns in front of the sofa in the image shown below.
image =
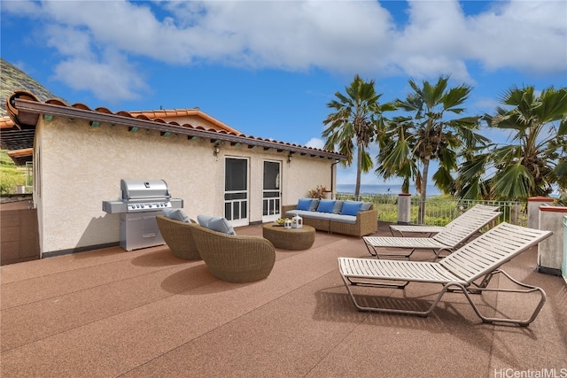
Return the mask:
[[262, 227], [262, 235], [272, 242], [274, 247], [283, 250], [307, 250], [315, 242], [315, 228], [306, 225], [302, 228], [283, 228], [276, 223], [267, 223]]

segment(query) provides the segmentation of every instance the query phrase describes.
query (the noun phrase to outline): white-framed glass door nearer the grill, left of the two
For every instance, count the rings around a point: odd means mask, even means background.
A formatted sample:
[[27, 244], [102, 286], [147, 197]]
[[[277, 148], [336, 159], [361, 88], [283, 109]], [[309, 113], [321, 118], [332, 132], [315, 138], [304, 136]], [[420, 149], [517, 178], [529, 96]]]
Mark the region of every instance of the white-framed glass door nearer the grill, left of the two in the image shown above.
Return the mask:
[[249, 224], [248, 197], [248, 159], [225, 158], [224, 217], [232, 226]]

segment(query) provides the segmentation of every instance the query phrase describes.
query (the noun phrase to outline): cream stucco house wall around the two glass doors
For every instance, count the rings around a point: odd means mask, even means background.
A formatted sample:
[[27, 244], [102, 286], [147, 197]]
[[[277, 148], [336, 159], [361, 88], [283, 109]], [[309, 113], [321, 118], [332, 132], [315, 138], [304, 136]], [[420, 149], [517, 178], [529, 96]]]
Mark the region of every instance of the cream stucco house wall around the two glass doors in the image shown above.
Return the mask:
[[[121, 125], [90, 127], [87, 120], [40, 119], [35, 131], [35, 206], [43, 254], [118, 243], [120, 214], [102, 211], [120, 199], [120, 180], [165, 180], [184, 210], [223, 215], [224, 159], [249, 161], [249, 221], [262, 220], [263, 161], [281, 162], [282, 204], [297, 202], [317, 185], [330, 188], [334, 160], [287, 151], [221, 143], [214, 156], [208, 139], [128, 131]], [[335, 180], [334, 178], [332, 179]], [[336, 181], [334, 181], [336, 182]]]

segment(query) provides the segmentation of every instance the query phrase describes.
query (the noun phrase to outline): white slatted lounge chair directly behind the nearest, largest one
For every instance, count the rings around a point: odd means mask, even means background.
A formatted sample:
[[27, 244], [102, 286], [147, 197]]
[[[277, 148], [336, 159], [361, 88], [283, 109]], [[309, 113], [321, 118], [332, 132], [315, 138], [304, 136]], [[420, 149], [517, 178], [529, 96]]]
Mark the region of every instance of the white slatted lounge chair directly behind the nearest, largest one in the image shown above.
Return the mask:
[[[501, 212], [472, 212], [467, 218], [454, 223], [451, 228], [446, 228], [431, 237], [362, 236], [362, 240], [366, 243], [369, 253], [377, 258], [394, 256], [409, 258], [416, 250], [432, 250], [436, 258], [439, 258], [440, 252], [454, 251], [480, 228], [500, 215]], [[380, 250], [383, 249], [398, 251], [381, 253]]]

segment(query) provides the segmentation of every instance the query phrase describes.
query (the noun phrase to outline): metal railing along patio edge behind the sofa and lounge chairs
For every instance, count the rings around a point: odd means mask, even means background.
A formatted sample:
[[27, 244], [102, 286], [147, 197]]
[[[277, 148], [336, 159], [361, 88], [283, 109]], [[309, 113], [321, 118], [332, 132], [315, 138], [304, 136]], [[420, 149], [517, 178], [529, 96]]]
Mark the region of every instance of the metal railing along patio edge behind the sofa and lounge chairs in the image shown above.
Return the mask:
[[[352, 193], [337, 193], [336, 199], [349, 199], [372, 202], [378, 211], [378, 220], [385, 222], [398, 221], [398, 196], [387, 194], [361, 194], [355, 197]], [[417, 212], [421, 198], [411, 197], [410, 223], [418, 224]], [[451, 220], [466, 212], [476, 204], [498, 206], [502, 215], [497, 222], [506, 221], [512, 224], [527, 226], [526, 204], [517, 201], [484, 201], [458, 200], [450, 197], [432, 197], [425, 199], [425, 214], [423, 224], [445, 226]]]

